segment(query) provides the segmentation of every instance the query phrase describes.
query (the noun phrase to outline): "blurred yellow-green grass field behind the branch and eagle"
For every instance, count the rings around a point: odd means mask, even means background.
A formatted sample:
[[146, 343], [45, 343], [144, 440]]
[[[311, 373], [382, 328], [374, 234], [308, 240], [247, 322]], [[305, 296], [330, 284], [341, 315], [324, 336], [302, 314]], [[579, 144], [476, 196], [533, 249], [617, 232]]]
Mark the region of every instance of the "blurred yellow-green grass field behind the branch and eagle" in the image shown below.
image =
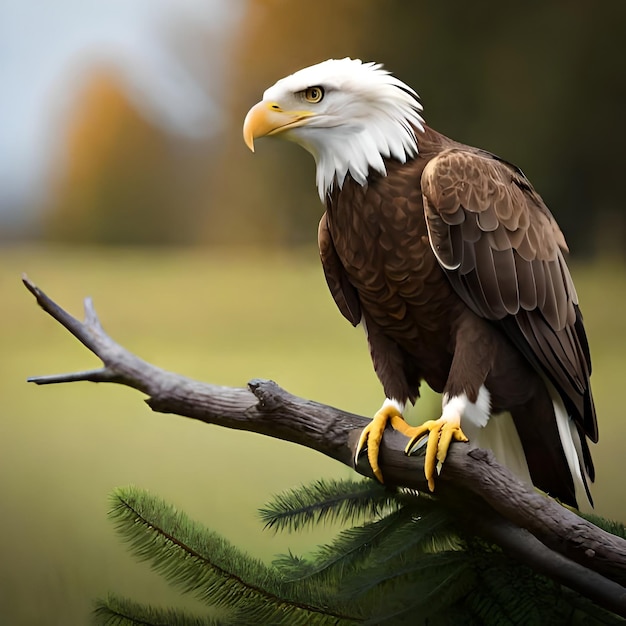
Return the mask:
[[[207, 382], [276, 380], [292, 393], [372, 414], [382, 391], [365, 340], [336, 310], [317, 252], [0, 250], [0, 622], [82, 624], [109, 590], [167, 603], [178, 595], [135, 563], [108, 522], [116, 486], [147, 488], [269, 560], [328, 539], [263, 531], [256, 510], [279, 491], [351, 471], [258, 435], [153, 414], [136, 391], [28, 376], [97, 359], [48, 318], [21, 284], [26, 272], [82, 317], [94, 298], [109, 334], [142, 358]], [[626, 520], [620, 405], [626, 374], [626, 270], [575, 266], [594, 359], [601, 441], [596, 511]], [[415, 409], [432, 417], [436, 398]]]

